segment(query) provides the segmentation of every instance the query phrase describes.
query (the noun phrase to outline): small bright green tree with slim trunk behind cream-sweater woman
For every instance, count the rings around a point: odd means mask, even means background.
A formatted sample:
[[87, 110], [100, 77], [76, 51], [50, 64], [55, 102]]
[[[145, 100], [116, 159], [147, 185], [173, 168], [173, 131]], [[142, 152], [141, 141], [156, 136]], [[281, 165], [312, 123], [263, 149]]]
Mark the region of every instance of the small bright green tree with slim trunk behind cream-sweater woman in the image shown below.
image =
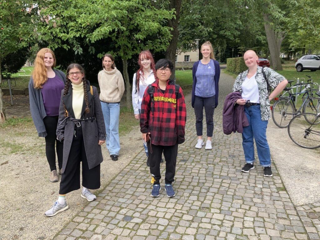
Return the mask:
[[[41, 15], [47, 19], [39, 26], [40, 37], [52, 49], [72, 46], [74, 53], [81, 55], [85, 45], [88, 52], [101, 58], [108, 45], [114, 44], [111, 53], [122, 59], [129, 93], [126, 102], [131, 108], [128, 60], [143, 49], [166, 50], [172, 37], [166, 25], [173, 11], [156, 9], [148, 0], [51, 0], [42, 9]], [[105, 42], [105, 51], [96, 51], [94, 43], [99, 41]]]

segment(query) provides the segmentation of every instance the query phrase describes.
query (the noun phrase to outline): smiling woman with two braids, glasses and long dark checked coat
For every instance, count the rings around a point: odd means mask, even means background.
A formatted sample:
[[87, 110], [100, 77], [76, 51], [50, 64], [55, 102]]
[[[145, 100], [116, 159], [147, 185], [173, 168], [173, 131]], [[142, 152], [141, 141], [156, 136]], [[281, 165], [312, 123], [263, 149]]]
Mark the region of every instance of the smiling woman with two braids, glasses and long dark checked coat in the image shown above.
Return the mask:
[[64, 143], [62, 177], [58, 200], [45, 212], [54, 216], [69, 208], [67, 193], [80, 188], [81, 197], [93, 201], [96, 196], [89, 189], [100, 188], [101, 145], [106, 141], [106, 128], [96, 87], [85, 80], [84, 69], [77, 63], [67, 68], [67, 81], [61, 91], [57, 139]]

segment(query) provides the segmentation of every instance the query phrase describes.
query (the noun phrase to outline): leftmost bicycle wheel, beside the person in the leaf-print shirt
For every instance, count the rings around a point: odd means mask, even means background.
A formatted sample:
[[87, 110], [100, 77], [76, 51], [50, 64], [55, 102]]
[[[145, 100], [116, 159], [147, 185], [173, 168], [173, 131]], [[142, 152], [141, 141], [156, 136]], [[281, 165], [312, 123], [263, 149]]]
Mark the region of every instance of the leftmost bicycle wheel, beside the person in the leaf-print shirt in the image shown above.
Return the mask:
[[280, 128], [285, 128], [289, 125], [290, 120], [295, 115], [292, 102], [287, 99], [279, 99], [272, 107], [272, 120]]

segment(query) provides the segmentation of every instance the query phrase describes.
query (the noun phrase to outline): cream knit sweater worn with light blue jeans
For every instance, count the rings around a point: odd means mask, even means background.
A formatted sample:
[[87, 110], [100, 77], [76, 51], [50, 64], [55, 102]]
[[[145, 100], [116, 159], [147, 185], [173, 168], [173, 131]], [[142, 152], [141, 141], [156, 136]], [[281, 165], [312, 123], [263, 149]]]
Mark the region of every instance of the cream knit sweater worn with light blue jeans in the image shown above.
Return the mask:
[[112, 71], [101, 70], [98, 73], [98, 81], [101, 101], [108, 103], [120, 102], [124, 93], [124, 80], [117, 68]]

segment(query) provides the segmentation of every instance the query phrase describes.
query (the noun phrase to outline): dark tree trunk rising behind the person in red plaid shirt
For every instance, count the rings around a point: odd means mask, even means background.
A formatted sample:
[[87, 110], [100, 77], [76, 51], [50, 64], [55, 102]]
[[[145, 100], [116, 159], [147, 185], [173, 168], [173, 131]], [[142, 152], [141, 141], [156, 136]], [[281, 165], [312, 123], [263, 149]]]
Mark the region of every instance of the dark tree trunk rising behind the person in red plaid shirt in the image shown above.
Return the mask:
[[168, 21], [168, 26], [172, 28], [170, 31], [172, 35], [172, 39], [170, 41], [170, 44], [165, 51], [165, 57], [172, 61], [173, 63], [173, 71], [171, 74], [171, 78], [175, 79], [175, 57], [177, 52], [177, 43], [178, 43], [178, 37], [179, 37], [179, 31], [178, 31], [178, 23], [180, 19], [180, 8], [181, 8], [181, 0], [170, 0], [170, 9], [175, 9], [176, 11], [176, 18], [172, 18]]

